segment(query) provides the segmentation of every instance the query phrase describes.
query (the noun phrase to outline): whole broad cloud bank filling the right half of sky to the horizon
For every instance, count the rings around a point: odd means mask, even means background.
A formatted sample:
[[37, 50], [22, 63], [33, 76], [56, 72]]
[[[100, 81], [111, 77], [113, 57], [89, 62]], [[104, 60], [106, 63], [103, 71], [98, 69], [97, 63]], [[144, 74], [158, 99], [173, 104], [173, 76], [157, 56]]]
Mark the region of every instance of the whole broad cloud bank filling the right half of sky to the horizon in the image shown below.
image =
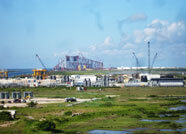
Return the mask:
[[[140, 65], [147, 66], [147, 42], [150, 41], [151, 61], [154, 54], [158, 53], [159, 61], [156, 61], [156, 66], [179, 66], [183, 65], [182, 58], [186, 55], [185, 35], [185, 22], [168, 22], [155, 19], [144, 29], [136, 29], [132, 34], [121, 36], [118, 42], [113, 42], [113, 38], [107, 36], [103, 39], [103, 42], [91, 45], [88, 53], [106, 59], [106, 64], [123, 65], [125, 63], [130, 66], [133, 63], [133, 66], [135, 66], [135, 62], [132, 62], [134, 60], [132, 52], [135, 52]], [[173, 53], [174, 55], [172, 55]], [[180, 60], [172, 62], [172, 59]]]

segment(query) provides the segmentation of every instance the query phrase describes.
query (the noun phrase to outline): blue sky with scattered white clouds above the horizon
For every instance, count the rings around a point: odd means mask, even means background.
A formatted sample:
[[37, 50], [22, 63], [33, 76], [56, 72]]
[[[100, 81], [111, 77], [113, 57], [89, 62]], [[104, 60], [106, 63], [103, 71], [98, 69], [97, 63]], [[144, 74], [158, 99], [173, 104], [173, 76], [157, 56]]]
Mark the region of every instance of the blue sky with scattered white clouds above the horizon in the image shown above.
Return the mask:
[[48, 68], [65, 55], [105, 67], [186, 67], [186, 0], [0, 0], [0, 69]]

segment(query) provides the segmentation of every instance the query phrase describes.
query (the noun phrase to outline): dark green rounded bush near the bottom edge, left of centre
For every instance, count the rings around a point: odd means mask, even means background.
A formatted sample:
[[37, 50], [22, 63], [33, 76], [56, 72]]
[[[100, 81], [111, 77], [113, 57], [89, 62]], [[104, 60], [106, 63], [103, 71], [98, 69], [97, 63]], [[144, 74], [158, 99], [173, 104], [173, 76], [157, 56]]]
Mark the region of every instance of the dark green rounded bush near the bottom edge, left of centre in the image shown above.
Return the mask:
[[56, 128], [56, 124], [52, 121], [44, 120], [37, 124], [37, 128], [43, 131], [54, 131]]

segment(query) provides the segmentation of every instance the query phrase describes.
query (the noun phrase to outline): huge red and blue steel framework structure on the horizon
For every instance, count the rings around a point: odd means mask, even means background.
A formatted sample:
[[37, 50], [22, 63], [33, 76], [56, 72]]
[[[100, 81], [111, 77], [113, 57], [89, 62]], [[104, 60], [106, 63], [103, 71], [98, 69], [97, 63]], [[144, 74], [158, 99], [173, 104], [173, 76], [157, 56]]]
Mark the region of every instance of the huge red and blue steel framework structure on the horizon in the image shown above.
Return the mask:
[[83, 56], [65, 56], [65, 60], [60, 61], [54, 70], [101, 70], [103, 62], [87, 59]]

